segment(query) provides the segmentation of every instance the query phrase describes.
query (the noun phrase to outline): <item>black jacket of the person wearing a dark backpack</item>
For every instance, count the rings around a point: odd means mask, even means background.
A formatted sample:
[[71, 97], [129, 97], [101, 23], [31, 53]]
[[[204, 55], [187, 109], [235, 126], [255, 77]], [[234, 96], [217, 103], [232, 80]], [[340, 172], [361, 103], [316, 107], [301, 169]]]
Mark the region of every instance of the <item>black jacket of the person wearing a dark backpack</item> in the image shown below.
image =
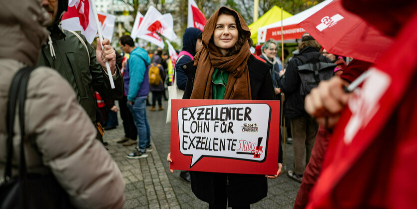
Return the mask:
[[[313, 46], [307, 46], [299, 54], [310, 59], [319, 56], [320, 52], [319, 49]], [[331, 62], [330, 59], [323, 55], [320, 55], [319, 59], [323, 62]], [[297, 72], [297, 66], [302, 64], [303, 62], [295, 56], [288, 62], [284, 76], [280, 77], [281, 91], [285, 93], [284, 116], [288, 118], [298, 118], [308, 115], [306, 110], [304, 110], [304, 98], [300, 94], [301, 80]]]

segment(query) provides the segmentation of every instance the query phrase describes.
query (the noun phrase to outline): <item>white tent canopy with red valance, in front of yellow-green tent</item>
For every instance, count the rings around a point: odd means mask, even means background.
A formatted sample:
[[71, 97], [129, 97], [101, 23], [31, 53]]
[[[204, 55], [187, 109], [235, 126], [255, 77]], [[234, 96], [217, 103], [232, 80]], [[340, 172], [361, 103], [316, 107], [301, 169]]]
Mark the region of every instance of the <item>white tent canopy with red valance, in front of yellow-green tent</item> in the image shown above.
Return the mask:
[[[287, 40], [285, 42], [293, 42], [288, 40], [301, 38], [301, 35], [303, 35], [303, 33], [306, 32], [306, 30], [304, 30], [301, 26], [298, 26], [297, 24], [302, 22], [304, 19], [311, 16], [312, 14], [316, 13], [318, 10], [322, 9], [332, 1], [333, 0], [325, 0], [311, 8], [308, 8], [298, 14], [295, 14], [294, 16], [284, 19], [282, 21], [282, 25], [284, 40]], [[273, 38], [275, 40], [281, 40], [281, 21], [268, 24], [258, 29], [258, 43], [263, 43], [270, 38]]]

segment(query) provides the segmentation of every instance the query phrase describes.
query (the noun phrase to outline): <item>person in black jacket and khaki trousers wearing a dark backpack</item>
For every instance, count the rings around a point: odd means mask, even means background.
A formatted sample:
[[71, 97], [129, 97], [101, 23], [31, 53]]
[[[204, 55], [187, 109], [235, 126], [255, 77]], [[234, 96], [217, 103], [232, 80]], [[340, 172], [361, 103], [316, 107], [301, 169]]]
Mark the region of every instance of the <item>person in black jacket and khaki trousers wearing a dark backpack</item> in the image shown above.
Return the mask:
[[321, 62], [330, 62], [320, 54], [321, 45], [309, 33], [304, 33], [301, 40], [298, 46], [300, 53], [288, 62], [285, 74], [280, 77], [279, 82], [286, 97], [283, 114], [290, 119], [293, 136], [294, 170], [288, 170], [287, 174], [300, 183], [310, 159], [319, 124], [304, 110], [304, 96], [300, 86], [302, 81], [297, 68], [304, 64], [302, 57], [307, 60], [317, 57]]

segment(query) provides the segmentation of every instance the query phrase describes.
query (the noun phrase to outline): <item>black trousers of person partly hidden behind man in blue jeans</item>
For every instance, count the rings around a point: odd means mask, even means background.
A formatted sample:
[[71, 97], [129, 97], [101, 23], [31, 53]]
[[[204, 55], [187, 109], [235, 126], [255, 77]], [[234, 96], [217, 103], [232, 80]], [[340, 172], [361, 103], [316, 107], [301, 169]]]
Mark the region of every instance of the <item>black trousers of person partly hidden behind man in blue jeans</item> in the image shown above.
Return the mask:
[[123, 129], [124, 129], [124, 136], [136, 140], [137, 137], [137, 128], [133, 121], [133, 116], [130, 110], [127, 108], [127, 96], [123, 95], [123, 97], [119, 100], [119, 107], [120, 107], [120, 116], [123, 120]]

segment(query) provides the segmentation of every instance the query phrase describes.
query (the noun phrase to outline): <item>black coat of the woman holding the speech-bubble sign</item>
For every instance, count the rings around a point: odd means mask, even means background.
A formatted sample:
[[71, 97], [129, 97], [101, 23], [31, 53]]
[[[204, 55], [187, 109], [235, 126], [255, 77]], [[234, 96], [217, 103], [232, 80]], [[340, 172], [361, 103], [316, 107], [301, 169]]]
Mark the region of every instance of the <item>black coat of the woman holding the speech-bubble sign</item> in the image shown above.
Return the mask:
[[[186, 67], [184, 67], [186, 65]], [[190, 61], [183, 64], [182, 69], [187, 74], [187, 84], [183, 98], [188, 99], [193, 90], [196, 66]], [[274, 100], [274, 88], [269, 69], [271, 65], [251, 55], [248, 60], [249, 78], [252, 99]], [[278, 161], [282, 162], [282, 147], [279, 141]], [[222, 181], [224, 179], [224, 181]], [[228, 205], [245, 205], [255, 203], [268, 193], [268, 183], [265, 175], [216, 173], [191, 171], [191, 187], [194, 194], [201, 200], [210, 202], [214, 197], [214, 190], [226, 187]], [[227, 182], [227, 183], [226, 183]], [[220, 189], [221, 190], [221, 189]]]

